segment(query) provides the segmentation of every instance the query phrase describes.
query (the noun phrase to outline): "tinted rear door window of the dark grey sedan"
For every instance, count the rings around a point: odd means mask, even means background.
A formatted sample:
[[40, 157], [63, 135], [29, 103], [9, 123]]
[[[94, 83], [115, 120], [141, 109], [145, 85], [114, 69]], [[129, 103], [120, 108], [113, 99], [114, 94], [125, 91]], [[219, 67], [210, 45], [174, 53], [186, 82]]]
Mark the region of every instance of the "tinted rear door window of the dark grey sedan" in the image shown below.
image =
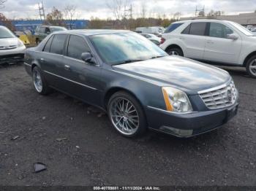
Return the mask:
[[56, 34], [50, 46], [50, 52], [57, 55], [62, 55], [66, 38], [67, 34]]

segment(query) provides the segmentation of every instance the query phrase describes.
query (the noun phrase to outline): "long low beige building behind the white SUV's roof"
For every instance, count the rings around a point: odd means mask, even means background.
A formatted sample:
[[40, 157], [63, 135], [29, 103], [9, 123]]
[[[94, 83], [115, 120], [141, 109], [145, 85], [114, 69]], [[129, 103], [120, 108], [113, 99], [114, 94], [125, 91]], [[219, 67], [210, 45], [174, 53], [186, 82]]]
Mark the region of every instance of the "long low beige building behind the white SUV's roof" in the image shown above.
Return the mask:
[[[207, 19], [209, 17], [181, 17], [181, 20], [192, 20], [192, 19]], [[210, 17], [219, 20], [230, 20], [236, 23], [239, 23], [243, 26], [256, 26], [256, 13], [241, 13], [239, 15], [221, 15]]]

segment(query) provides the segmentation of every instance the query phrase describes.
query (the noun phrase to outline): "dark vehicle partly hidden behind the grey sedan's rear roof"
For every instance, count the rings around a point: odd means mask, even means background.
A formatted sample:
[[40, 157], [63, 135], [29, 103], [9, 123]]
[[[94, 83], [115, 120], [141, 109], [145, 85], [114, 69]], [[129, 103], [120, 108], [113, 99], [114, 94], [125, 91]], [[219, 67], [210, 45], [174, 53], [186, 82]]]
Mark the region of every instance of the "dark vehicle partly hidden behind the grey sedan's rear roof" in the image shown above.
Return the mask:
[[34, 34], [36, 43], [39, 44], [46, 36], [56, 31], [67, 31], [67, 28], [61, 26], [38, 26]]

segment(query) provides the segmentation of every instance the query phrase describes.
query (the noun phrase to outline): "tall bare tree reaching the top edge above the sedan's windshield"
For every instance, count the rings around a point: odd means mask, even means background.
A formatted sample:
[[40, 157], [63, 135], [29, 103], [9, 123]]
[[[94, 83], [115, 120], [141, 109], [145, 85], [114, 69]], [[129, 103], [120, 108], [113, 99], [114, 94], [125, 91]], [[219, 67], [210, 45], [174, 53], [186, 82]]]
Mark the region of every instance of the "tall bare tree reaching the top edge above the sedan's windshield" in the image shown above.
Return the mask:
[[111, 0], [106, 1], [107, 7], [113, 12], [116, 20], [122, 20], [127, 17], [129, 9], [129, 0]]

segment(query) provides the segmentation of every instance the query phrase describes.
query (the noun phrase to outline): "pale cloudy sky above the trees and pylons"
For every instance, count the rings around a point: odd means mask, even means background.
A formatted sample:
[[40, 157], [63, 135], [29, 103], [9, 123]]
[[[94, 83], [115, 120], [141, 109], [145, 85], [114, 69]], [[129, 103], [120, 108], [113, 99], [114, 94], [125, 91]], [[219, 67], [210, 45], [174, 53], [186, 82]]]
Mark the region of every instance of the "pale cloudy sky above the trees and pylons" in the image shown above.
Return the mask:
[[[39, 1], [42, 0], [7, 0], [0, 12], [10, 19], [37, 19]], [[140, 15], [142, 7], [146, 7], [146, 16], [152, 17], [159, 14], [171, 17], [176, 12], [181, 12], [181, 17], [194, 16], [195, 7], [204, 6], [206, 12], [214, 9], [224, 11], [226, 15], [254, 12], [256, 9], [256, 0], [43, 0], [43, 4], [46, 13], [50, 12], [52, 7], [63, 10], [67, 4], [71, 4], [77, 7], [75, 17], [79, 19], [107, 19], [113, 18], [113, 11], [108, 7], [113, 1], [129, 1], [127, 4], [132, 4], [135, 16]]]

